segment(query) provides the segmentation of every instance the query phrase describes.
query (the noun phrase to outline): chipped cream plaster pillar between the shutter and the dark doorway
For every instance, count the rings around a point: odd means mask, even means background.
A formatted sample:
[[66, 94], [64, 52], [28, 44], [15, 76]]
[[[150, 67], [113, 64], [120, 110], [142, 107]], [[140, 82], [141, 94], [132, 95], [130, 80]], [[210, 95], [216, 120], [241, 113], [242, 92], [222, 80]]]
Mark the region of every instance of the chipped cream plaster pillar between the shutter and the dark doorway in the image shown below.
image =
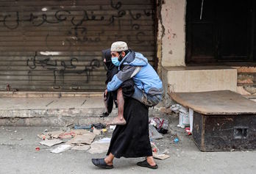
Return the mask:
[[164, 67], [185, 66], [185, 7], [185, 0], [162, 1], [158, 39]]

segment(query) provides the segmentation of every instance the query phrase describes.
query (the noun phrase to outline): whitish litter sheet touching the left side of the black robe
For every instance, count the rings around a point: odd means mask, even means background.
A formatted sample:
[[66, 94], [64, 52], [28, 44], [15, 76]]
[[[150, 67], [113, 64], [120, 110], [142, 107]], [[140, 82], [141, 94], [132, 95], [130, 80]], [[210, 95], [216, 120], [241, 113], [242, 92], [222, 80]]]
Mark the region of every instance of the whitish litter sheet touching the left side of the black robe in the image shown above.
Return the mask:
[[110, 146], [110, 138], [99, 139], [90, 145], [89, 153], [104, 153], [107, 152]]

